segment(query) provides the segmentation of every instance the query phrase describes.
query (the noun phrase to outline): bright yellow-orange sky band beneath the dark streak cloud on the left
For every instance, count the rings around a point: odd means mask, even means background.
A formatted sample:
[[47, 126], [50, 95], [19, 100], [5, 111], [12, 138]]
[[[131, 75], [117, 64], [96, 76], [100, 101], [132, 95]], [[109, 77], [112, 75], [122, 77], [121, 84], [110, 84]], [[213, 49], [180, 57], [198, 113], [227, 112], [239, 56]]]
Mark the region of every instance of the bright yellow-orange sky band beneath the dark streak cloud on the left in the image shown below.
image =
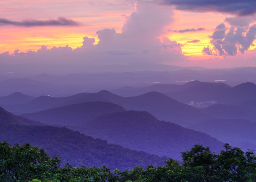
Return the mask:
[[[82, 18], [81, 18], [82, 19]], [[83, 37], [94, 37], [98, 43], [97, 30], [114, 28], [121, 33], [123, 20], [104, 22], [100, 18], [97, 23], [80, 27], [8, 27], [1, 30], [0, 53], [9, 51], [11, 54], [19, 48], [19, 51], [38, 50], [42, 45], [48, 48], [54, 46], [66, 46], [73, 49], [82, 46]], [[101, 22], [101, 23], [100, 23]], [[17, 33], [18, 32], [18, 33]]]

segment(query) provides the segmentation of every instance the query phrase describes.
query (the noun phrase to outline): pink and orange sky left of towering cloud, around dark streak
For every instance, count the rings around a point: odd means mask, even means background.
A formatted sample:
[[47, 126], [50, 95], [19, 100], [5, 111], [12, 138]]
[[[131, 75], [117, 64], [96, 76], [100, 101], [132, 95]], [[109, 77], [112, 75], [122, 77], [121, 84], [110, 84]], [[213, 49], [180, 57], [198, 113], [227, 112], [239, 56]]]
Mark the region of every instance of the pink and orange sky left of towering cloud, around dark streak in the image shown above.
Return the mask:
[[[49, 8], [51, 7], [51, 8]], [[118, 8], [120, 9], [118, 9]], [[54, 10], [54, 11], [53, 11]], [[1, 26], [0, 54], [17, 48], [19, 51], [38, 50], [42, 45], [52, 48], [66, 46], [73, 49], [80, 47], [83, 37], [94, 37], [98, 43], [96, 32], [104, 28], [114, 28], [121, 33], [125, 22], [124, 16], [134, 11], [131, 2], [108, 2], [99, 0], [93, 3], [89, 0], [39, 0], [39, 1], [3, 1], [0, 2], [0, 18], [12, 21], [26, 19], [47, 20], [59, 16], [78, 21], [78, 27], [16, 27]]]

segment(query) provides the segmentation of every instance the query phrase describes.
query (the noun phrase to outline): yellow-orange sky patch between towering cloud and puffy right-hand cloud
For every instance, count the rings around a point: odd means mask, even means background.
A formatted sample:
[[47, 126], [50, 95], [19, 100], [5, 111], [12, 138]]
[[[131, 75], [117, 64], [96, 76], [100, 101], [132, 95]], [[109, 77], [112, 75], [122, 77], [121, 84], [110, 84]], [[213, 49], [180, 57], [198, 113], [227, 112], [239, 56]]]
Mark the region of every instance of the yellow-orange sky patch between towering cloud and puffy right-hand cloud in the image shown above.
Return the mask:
[[[204, 28], [203, 31], [196, 32], [169, 32], [166, 36], [170, 40], [176, 40], [177, 43], [183, 44], [181, 47], [182, 54], [189, 57], [195, 57], [196, 59], [200, 57], [211, 57], [203, 55], [202, 50], [204, 47], [211, 46], [209, 35], [212, 35], [214, 28], [223, 23], [225, 15], [220, 13], [196, 13], [196, 12], [184, 12], [184, 11], [174, 11], [174, 23], [172, 30], [183, 30], [183, 29], [197, 29]], [[197, 43], [188, 43], [187, 41], [200, 40]]]

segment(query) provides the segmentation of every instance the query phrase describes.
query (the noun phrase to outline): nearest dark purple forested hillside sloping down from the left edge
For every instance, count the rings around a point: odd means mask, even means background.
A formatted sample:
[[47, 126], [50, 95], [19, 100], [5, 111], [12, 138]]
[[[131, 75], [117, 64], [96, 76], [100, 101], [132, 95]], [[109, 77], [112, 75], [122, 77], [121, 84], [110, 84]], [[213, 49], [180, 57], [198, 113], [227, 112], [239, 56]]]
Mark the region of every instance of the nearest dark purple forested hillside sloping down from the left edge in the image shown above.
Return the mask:
[[110, 145], [65, 127], [26, 126], [3, 109], [0, 114], [0, 141], [8, 141], [12, 145], [30, 143], [44, 148], [48, 155], [60, 155], [62, 165], [69, 163], [73, 166], [108, 166], [111, 170], [128, 170], [137, 165], [163, 165], [168, 159]]

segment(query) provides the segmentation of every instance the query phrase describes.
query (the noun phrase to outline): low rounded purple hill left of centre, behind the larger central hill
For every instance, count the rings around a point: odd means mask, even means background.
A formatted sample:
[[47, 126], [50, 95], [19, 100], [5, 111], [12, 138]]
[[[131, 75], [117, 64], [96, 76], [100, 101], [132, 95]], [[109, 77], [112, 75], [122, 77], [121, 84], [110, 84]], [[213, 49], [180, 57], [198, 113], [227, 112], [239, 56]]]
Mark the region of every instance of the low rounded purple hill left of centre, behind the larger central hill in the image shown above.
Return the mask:
[[49, 110], [22, 114], [23, 117], [46, 124], [79, 126], [102, 114], [125, 111], [117, 104], [109, 102], [82, 102]]

